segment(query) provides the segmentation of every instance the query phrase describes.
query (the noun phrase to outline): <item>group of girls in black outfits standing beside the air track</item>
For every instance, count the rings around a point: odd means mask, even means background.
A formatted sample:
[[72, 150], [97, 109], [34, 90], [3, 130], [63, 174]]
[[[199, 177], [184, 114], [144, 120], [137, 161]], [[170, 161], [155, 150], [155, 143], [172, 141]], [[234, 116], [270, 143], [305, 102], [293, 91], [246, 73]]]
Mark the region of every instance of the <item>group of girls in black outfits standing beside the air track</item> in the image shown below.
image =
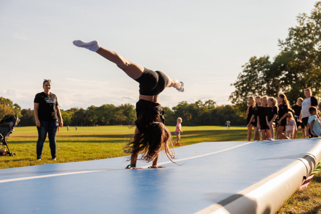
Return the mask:
[[[253, 140], [274, 140], [274, 128], [277, 139], [296, 138], [297, 127], [302, 128], [303, 138], [305, 124], [301, 120], [301, 106], [303, 98], [299, 98], [297, 105], [292, 107], [285, 94], [279, 94], [277, 100], [273, 97], [249, 97], [246, 109], [247, 140], [251, 140], [254, 127]], [[293, 117], [295, 114], [295, 118]]]

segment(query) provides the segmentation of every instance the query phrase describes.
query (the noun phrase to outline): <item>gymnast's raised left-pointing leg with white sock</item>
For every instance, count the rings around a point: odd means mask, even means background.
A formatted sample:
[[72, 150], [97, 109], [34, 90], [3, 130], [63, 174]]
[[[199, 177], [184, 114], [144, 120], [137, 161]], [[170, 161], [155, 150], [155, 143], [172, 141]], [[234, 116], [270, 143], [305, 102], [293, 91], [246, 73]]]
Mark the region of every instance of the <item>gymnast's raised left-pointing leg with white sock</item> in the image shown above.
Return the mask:
[[143, 72], [144, 67], [133, 63], [124, 57], [120, 56], [118, 53], [114, 51], [107, 50], [103, 47], [100, 47], [98, 41], [84, 42], [82, 40], [73, 41], [74, 45], [77, 47], [84, 47], [91, 51], [96, 52], [100, 56], [108, 59], [110, 62], [115, 63], [120, 69], [122, 69], [130, 78], [137, 79], [139, 78]]

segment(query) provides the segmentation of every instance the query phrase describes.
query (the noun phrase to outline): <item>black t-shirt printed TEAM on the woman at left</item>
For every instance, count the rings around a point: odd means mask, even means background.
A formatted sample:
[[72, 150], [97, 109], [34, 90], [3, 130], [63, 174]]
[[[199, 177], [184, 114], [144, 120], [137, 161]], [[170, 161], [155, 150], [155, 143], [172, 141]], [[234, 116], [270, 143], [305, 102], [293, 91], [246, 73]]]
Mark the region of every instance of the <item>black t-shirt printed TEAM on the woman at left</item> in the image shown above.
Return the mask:
[[36, 94], [35, 103], [39, 103], [38, 118], [39, 120], [52, 121], [57, 120], [58, 101], [55, 94], [50, 95], [45, 92]]

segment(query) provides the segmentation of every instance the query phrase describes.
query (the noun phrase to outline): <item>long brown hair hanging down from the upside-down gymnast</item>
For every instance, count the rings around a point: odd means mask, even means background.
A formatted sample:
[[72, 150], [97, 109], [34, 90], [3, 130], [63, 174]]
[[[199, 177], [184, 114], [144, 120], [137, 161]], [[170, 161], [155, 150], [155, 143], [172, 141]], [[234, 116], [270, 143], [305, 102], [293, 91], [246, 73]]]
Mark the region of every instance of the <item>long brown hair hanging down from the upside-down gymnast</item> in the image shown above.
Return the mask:
[[[135, 121], [139, 120], [137, 118]], [[175, 153], [169, 150], [168, 144], [172, 142], [172, 135], [166, 126], [161, 122], [160, 116], [153, 117], [150, 123], [147, 123], [146, 131], [142, 134], [136, 134], [128, 143], [124, 145], [125, 153], [142, 153], [138, 160], [146, 162], [153, 161], [158, 157], [161, 150], [165, 151], [166, 156], [172, 161]], [[126, 160], [131, 160], [132, 156]], [[174, 161], [172, 161], [175, 163]]]

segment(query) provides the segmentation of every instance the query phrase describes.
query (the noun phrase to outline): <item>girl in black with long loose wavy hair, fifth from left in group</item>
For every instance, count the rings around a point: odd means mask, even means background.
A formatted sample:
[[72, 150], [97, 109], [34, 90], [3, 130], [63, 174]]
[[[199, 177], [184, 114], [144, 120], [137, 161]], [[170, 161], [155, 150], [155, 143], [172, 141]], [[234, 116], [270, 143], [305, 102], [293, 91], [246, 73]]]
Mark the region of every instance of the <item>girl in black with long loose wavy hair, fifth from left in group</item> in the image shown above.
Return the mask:
[[279, 94], [278, 96], [278, 103], [279, 103], [279, 111], [278, 111], [278, 140], [279, 139], [289, 139], [285, 134], [285, 126], [287, 122], [288, 112], [291, 111], [291, 107], [289, 105], [289, 101], [286, 98], [285, 94]]

